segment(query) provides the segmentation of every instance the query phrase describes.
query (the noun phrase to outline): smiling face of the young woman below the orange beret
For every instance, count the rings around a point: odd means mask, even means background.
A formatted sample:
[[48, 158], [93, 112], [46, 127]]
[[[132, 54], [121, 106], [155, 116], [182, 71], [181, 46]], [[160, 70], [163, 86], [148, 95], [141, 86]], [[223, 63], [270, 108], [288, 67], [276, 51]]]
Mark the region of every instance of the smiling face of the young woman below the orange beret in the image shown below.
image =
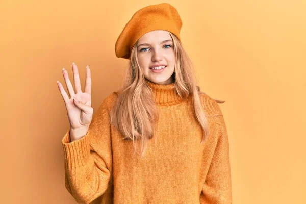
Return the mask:
[[[171, 84], [175, 55], [173, 41], [168, 31], [151, 31], [138, 40], [137, 58], [144, 77], [156, 84]], [[160, 70], [152, 67], [166, 66]]]

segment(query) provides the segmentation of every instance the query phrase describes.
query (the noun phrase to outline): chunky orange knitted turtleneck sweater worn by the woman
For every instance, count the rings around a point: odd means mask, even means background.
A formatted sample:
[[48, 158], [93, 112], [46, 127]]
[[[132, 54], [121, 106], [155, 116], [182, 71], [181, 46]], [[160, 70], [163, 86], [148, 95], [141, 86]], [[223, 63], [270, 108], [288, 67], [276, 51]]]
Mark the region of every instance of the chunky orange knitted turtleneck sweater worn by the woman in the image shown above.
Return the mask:
[[[192, 97], [181, 99], [171, 85], [146, 80], [154, 92], [159, 121], [141, 159], [133, 141], [122, 140], [110, 124], [116, 92], [93, 116], [87, 134], [62, 139], [65, 187], [78, 203], [232, 203], [229, 143], [221, 109], [200, 93], [209, 134], [205, 142], [193, 111]], [[139, 150], [140, 143], [137, 146]]]

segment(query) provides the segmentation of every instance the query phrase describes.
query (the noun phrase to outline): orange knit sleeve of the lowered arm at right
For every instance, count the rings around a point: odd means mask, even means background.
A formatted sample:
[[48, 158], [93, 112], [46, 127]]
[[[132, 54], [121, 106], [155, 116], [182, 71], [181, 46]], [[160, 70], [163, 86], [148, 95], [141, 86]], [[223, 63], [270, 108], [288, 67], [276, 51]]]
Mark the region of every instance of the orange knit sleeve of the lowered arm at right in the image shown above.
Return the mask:
[[214, 125], [217, 145], [202, 187], [200, 204], [231, 204], [232, 181], [227, 130], [223, 115]]

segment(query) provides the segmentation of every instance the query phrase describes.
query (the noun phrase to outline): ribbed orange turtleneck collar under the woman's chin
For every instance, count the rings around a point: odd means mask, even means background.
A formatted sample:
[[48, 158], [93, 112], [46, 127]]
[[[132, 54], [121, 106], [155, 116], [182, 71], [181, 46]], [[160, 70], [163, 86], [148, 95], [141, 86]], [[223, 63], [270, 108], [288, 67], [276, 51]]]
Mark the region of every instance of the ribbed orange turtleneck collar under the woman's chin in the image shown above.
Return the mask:
[[156, 84], [147, 79], [145, 79], [145, 82], [151, 87], [153, 100], [159, 106], [171, 106], [184, 100], [176, 93], [175, 88], [173, 88], [174, 82], [167, 85]]

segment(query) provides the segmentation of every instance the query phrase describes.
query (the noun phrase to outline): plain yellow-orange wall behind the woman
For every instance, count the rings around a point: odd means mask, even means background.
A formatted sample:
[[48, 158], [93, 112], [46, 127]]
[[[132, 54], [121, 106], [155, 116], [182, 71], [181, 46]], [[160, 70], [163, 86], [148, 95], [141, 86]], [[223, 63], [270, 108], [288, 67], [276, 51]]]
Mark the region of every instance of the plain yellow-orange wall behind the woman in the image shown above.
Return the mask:
[[[165, 2], [183, 20], [201, 91], [226, 100], [233, 203], [306, 203], [306, 2]], [[1, 1], [1, 203], [76, 203], [64, 186], [62, 67], [72, 80], [77, 64], [84, 91], [90, 66], [97, 110], [127, 65], [118, 35], [159, 3]]]

